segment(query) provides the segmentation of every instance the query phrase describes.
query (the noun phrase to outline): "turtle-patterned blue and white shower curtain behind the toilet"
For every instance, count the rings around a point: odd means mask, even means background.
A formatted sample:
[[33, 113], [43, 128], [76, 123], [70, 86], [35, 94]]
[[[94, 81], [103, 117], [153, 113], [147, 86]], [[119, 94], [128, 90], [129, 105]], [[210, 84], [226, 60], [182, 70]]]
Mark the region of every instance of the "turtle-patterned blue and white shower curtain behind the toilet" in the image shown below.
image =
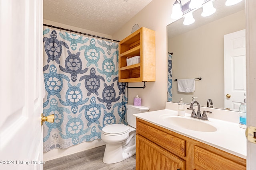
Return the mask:
[[44, 27], [44, 152], [101, 139], [126, 122], [125, 83], [118, 82], [118, 43]]

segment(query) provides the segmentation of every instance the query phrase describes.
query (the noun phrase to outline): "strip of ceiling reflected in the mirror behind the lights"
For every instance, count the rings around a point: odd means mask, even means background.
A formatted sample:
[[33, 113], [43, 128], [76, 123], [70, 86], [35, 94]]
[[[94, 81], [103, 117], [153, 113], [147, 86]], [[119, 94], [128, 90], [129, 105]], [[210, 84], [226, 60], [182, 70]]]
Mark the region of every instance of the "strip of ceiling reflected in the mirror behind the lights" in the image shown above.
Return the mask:
[[[174, 21], [167, 26], [168, 38], [175, 37], [212, 21], [218, 20], [225, 16], [234, 14], [238, 11], [244, 10], [244, 0], [233, 6], [226, 6], [226, 0], [215, 0], [213, 6], [216, 8], [216, 12], [208, 17], [202, 17], [202, 8], [193, 12], [195, 22], [191, 25], [183, 25], [184, 17], [180, 20]], [[186, 15], [186, 14], [185, 14]]]

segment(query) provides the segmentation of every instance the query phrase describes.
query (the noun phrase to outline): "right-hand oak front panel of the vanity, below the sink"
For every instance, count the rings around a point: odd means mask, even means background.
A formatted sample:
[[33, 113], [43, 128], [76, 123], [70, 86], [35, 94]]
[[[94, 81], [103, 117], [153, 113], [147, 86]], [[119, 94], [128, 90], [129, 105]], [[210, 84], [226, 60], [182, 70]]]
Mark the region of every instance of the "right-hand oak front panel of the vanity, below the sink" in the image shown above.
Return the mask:
[[198, 146], [194, 146], [194, 163], [196, 170], [246, 170], [245, 166]]

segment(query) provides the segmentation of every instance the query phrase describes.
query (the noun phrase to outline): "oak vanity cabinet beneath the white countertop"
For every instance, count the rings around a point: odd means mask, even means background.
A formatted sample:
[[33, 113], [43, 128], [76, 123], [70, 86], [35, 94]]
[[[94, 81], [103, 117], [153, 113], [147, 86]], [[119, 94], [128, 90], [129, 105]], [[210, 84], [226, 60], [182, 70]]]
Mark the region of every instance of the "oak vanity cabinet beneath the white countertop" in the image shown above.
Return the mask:
[[136, 170], [149, 169], [246, 170], [246, 160], [136, 118]]

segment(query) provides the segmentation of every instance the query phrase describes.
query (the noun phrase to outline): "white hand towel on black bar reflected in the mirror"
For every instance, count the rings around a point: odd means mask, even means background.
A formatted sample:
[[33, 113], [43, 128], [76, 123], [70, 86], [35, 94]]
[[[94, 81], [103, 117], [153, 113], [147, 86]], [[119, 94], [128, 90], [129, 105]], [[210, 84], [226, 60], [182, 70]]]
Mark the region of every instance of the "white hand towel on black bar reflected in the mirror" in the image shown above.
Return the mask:
[[178, 92], [191, 93], [196, 89], [195, 79], [179, 79], [178, 82]]

